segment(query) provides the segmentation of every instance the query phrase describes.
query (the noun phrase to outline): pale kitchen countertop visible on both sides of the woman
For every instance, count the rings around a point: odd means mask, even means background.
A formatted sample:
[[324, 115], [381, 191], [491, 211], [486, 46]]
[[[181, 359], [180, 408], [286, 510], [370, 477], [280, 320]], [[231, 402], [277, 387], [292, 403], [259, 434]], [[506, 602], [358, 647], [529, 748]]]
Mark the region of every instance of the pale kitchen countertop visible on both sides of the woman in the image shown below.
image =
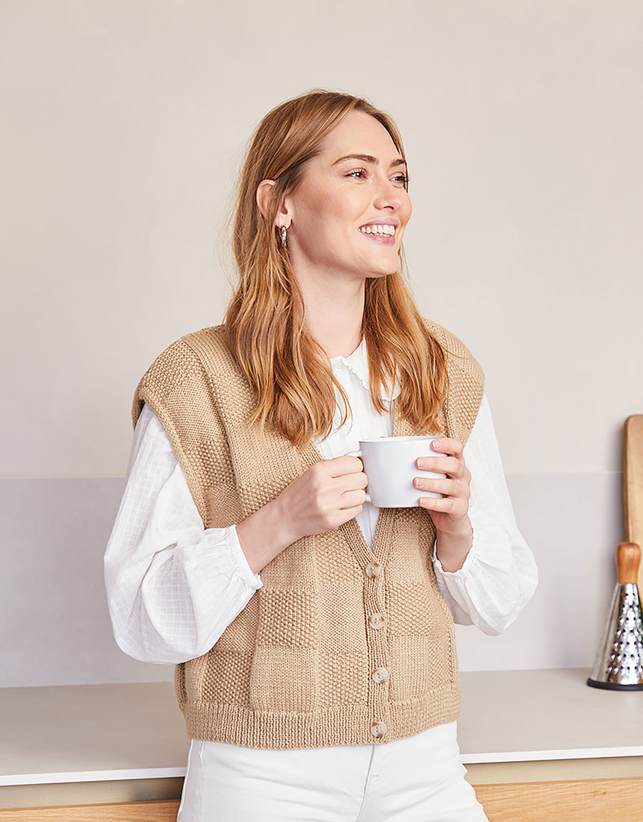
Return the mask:
[[[465, 764], [643, 756], [643, 691], [597, 690], [589, 672], [469, 672]], [[0, 786], [185, 775], [171, 683], [0, 689]]]

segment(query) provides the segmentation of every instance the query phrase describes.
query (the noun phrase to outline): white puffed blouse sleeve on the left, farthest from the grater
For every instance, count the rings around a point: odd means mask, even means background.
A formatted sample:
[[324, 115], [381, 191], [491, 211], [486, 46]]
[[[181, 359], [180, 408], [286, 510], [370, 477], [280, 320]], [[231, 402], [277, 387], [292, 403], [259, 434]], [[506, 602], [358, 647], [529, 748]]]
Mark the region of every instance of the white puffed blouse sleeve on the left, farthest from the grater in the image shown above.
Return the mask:
[[236, 526], [204, 529], [168, 435], [147, 404], [104, 566], [114, 638], [143, 662], [181, 663], [207, 653], [261, 587]]

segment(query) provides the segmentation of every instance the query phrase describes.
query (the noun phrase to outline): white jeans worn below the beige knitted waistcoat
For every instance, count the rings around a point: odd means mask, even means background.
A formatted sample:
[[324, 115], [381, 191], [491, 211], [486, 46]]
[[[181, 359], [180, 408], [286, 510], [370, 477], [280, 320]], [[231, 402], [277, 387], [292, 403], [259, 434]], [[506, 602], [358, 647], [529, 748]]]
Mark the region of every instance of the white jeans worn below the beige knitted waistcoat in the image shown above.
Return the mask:
[[385, 745], [264, 750], [192, 740], [180, 822], [486, 822], [456, 723]]

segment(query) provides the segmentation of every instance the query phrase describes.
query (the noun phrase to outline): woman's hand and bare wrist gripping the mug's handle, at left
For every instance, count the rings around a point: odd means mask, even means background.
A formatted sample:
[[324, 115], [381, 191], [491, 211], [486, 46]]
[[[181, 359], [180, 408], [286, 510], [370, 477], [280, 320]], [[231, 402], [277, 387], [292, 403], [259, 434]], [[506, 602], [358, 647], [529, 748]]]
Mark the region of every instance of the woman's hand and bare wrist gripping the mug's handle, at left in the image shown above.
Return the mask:
[[292, 543], [338, 528], [361, 512], [368, 478], [361, 459], [324, 459], [311, 465], [273, 501], [237, 525], [254, 574]]

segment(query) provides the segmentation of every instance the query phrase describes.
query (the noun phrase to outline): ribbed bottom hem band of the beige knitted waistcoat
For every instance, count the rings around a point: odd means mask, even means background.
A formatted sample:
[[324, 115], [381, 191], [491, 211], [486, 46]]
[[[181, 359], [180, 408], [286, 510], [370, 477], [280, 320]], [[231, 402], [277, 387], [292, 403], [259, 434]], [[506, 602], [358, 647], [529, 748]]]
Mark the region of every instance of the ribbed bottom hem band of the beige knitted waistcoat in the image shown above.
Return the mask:
[[[460, 713], [460, 688], [456, 683], [432, 691], [425, 700], [389, 703], [377, 716], [368, 705], [342, 705], [315, 713], [269, 713], [207, 702], [186, 703], [183, 713], [187, 735], [193, 739], [271, 749], [374, 745], [453, 722]], [[372, 735], [374, 722], [385, 723], [384, 737]]]

